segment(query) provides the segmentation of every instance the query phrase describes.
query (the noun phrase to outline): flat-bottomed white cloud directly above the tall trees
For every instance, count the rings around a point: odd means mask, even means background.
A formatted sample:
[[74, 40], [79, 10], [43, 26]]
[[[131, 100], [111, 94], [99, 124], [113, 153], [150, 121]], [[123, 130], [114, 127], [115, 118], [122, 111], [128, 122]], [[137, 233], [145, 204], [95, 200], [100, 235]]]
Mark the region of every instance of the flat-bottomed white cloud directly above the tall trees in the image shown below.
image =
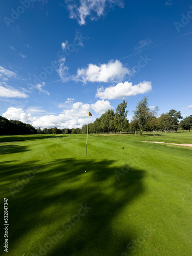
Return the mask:
[[116, 86], [97, 89], [96, 97], [101, 99], [121, 99], [137, 94], [148, 93], [152, 90], [150, 81], [143, 81], [133, 86], [132, 82], [120, 82]]

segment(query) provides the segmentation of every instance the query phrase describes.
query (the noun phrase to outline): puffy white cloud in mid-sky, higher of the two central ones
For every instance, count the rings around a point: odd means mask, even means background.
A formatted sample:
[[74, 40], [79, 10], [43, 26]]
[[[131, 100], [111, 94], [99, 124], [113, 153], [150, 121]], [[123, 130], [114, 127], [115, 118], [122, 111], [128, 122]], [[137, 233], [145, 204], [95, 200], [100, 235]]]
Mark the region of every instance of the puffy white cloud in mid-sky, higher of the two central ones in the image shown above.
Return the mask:
[[76, 81], [86, 82], [113, 82], [121, 81], [126, 75], [130, 74], [130, 70], [123, 67], [119, 60], [110, 60], [107, 64], [100, 66], [89, 64], [88, 68], [78, 69], [77, 75], [74, 77]]

